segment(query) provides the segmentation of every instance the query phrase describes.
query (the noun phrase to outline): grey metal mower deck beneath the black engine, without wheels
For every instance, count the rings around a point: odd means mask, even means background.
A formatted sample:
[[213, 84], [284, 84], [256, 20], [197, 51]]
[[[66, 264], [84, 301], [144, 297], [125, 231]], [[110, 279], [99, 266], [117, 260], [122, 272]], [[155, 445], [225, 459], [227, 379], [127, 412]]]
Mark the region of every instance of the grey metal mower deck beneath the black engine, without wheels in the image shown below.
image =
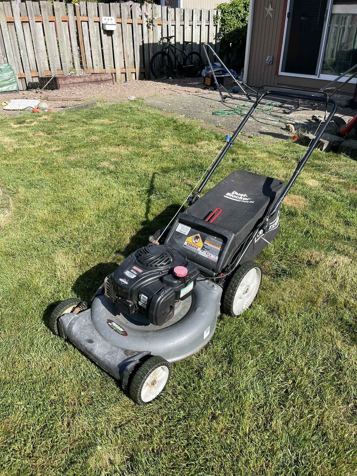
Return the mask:
[[120, 364], [136, 354], [146, 352], [176, 362], [198, 352], [216, 329], [221, 293], [220, 286], [199, 280], [192, 296], [182, 301], [164, 326], [148, 324], [140, 313], [118, 314], [114, 303], [97, 294], [90, 309], [60, 318], [60, 335], [119, 380]]

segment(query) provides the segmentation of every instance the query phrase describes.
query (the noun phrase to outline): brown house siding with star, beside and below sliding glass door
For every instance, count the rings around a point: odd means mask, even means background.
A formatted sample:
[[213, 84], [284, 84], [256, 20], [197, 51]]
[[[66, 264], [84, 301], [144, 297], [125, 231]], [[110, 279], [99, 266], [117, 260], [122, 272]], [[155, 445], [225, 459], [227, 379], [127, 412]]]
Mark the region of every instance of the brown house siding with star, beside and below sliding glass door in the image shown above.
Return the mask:
[[[250, 0], [251, 4], [253, 0]], [[275, 10], [273, 18], [267, 17], [269, 3]], [[247, 84], [248, 86], [292, 86], [306, 89], [320, 89], [331, 79], [302, 78], [298, 76], [279, 75], [280, 54], [285, 26], [288, 0], [254, 0], [252, 32], [249, 45]], [[273, 64], [265, 62], [267, 56], [273, 56]], [[303, 59], [296, 58], [296, 61]], [[341, 92], [353, 94], [355, 83], [347, 83]]]

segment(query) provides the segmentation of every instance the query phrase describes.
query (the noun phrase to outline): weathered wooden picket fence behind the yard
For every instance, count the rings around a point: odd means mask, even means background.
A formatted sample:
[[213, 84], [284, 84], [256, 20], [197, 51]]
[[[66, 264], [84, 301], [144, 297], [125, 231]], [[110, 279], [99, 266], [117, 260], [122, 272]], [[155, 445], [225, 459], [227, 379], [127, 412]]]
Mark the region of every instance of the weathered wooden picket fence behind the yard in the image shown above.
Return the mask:
[[[162, 15], [161, 15], [162, 13]], [[78, 4], [49, 1], [0, 2], [0, 63], [10, 63], [20, 89], [39, 77], [114, 73], [116, 81], [152, 79], [149, 62], [160, 50], [161, 36], [174, 36], [177, 47], [217, 52], [219, 25], [215, 10], [171, 9], [127, 2]], [[116, 30], [102, 28], [102, 17], [116, 18]], [[50, 79], [50, 78], [49, 78]]]

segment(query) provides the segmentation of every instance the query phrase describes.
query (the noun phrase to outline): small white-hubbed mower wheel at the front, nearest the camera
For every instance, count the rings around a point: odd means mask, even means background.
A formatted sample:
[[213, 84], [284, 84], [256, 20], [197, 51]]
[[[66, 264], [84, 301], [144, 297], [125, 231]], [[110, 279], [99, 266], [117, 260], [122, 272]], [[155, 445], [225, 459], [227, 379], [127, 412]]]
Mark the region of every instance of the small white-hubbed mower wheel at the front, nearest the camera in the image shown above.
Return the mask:
[[130, 398], [138, 405], [147, 405], [166, 387], [171, 366], [160, 356], [152, 356], [135, 371], [129, 387]]

